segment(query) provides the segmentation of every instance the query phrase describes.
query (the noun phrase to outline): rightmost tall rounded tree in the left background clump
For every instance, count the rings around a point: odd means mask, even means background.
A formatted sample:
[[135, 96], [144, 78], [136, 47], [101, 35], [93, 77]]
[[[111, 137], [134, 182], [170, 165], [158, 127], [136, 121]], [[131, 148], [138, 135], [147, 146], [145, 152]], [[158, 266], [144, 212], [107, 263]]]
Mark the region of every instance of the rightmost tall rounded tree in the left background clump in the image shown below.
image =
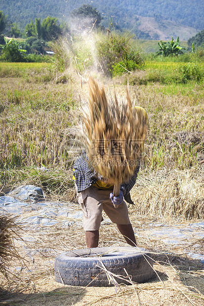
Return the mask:
[[57, 39], [62, 33], [62, 30], [58, 26], [58, 19], [55, 17], [47, 17], [43, 19], [41, 25], [41, 38], [44, 40]]

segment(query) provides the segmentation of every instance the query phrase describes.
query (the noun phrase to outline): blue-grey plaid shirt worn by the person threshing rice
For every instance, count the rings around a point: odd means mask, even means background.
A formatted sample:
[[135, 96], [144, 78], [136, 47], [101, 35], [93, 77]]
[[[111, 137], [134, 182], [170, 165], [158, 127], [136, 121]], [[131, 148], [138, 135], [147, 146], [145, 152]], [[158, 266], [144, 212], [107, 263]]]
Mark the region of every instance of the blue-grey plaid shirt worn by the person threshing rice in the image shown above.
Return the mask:
[[[130, 198], [129, 191], [132, 189], [136, 182], [138, 171], [139, 165], [130, 180], [126, 183], [121, 184], [121, 190], [123, 192], [124, 199], [130, 204], [134, 203]], [[90, 166], [88, 162], [88, 157], [85, 153], [83, 153], [83, 155], [81, 155], [75, 161], [73, 175], [75, 177], [75, 183], [77, 185], [78, 192], [85, 190], [100, 179], [95, 170]]]

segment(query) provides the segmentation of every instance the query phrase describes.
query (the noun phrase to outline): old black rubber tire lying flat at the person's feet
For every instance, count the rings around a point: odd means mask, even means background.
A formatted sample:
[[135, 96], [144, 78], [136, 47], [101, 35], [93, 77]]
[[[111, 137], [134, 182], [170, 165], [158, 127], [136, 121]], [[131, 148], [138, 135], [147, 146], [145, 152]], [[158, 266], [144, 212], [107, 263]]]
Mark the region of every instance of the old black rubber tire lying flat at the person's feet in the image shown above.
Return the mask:
[[124, 268], [136, 283], [146, 282], [154, 275], [152, 256], [147, 250], [106, 247], [73, 250], [58, 255], [54, 263], [55, 280], [71, 286], [113, 286], [109, 283], [106, 272], [100, 268], [102, 264], [97, 256], [108, 271], [123, 276], [123, 279], [114, 276], [119, 284], [129, 284], [125, 281], [128, 277]]

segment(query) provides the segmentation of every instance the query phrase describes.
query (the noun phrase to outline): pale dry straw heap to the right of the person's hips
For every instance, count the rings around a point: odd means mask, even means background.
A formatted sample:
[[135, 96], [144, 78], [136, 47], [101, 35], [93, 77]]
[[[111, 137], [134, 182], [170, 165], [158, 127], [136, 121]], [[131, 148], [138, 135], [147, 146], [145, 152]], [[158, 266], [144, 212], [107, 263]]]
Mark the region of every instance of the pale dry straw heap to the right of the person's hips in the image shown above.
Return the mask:
[[176, 220], [204, 219], [204, 178], [195, 169], [141, 176], [131, 194], [137, 213]]

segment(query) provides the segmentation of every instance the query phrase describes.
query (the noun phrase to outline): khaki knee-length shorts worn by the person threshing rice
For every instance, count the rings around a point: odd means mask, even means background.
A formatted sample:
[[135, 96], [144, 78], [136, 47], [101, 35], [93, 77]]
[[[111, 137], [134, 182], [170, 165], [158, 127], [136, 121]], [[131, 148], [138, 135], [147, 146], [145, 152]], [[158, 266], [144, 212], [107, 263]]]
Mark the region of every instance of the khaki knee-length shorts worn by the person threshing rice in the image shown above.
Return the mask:
[[98, 230], [103, 221], [102, 211], [107, 214], [113, 223], [130, 224], [128, 209], [125, 202], [115, 208], [110, 200], [112, 190], [101, 190], [90, 186], [84, 191], [77, 192], [79, 204], [83, 212], [83, 229]]

